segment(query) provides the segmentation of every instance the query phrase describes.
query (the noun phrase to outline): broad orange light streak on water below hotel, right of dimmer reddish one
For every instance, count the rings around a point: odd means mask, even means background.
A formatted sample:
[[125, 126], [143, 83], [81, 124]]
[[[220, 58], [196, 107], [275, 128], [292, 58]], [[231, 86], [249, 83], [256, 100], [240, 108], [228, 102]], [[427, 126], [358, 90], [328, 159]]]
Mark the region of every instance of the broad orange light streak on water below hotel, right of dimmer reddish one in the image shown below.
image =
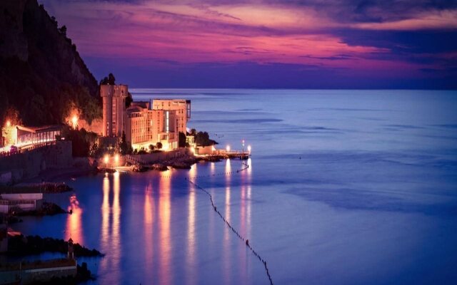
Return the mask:
[[159, 181], [160, 271], [159, 283], [171, 284], [171, 171], [162, 172]]

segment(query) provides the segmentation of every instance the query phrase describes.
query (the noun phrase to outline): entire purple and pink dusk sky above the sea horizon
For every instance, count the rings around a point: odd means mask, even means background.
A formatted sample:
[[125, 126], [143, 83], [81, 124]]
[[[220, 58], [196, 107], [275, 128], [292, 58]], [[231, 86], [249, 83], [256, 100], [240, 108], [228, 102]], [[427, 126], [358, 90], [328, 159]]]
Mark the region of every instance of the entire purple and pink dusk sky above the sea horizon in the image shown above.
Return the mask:
[[457, 89], [457, 0], [39, 0], [133, 88]]

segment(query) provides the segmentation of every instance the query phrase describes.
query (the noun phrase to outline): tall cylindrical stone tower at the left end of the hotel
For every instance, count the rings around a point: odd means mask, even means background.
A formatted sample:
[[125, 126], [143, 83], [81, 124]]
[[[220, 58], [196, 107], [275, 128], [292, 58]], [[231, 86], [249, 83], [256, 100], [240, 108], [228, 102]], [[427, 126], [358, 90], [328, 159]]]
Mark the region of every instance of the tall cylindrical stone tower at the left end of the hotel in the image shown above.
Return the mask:
[[126, 97], [129, 88], [126, 85], [100, 86], [103, 98], [103, 128], [104, 137], [120, 137], [125, 128]]

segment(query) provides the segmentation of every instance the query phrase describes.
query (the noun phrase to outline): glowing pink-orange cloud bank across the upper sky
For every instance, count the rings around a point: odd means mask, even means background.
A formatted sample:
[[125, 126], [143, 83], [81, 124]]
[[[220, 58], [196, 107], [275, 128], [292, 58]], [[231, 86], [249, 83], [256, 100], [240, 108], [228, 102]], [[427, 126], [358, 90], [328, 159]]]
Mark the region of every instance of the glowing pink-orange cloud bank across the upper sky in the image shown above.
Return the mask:
[[[442, 25], [449, 14], [379, 24], [340, 24], [314, 9], [265, 4], [48, 1], [83, 56], [179, 63], [298, 63], [328, 68], [421, 68], [373, 59], [388, 48], [350, 46], [328, 28], [411, 29]], [[436, 18], [438, 17], [438, 18]], [[441, 17], [441, 18], [440, 18]], [[448, 25], [457, 23], [456, 18]], [[438, 23], [438, 24], [437, 24]], [[347, 58], [338, 59], [344, 54]], [[332, 58], [326, 60], [326, 58]], [[349, 59], [348, 59], [349, 58]]]

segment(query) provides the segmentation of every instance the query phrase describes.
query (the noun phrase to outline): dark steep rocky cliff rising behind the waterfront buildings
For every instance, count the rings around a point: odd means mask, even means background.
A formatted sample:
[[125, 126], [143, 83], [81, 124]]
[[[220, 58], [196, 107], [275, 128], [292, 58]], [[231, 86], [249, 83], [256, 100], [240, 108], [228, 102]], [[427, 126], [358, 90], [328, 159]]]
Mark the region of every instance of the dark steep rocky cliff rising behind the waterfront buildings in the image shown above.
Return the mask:
[[101, 115], [98, 84], [66, 28], [36, 0], [0, 1], [0, 123], [8, 109], [26, 125], [61, 123], [74, 106]]

